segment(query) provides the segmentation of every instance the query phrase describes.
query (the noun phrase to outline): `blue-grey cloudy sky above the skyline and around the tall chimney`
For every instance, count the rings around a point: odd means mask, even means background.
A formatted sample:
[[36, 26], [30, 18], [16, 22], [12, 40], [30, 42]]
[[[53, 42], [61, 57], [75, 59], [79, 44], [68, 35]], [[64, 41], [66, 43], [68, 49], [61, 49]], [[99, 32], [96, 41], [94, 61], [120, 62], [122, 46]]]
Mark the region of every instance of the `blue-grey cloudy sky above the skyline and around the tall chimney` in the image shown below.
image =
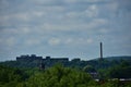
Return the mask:
[[0, 0], [0, 61], [131, 55], [130, 27], [131, 0]]

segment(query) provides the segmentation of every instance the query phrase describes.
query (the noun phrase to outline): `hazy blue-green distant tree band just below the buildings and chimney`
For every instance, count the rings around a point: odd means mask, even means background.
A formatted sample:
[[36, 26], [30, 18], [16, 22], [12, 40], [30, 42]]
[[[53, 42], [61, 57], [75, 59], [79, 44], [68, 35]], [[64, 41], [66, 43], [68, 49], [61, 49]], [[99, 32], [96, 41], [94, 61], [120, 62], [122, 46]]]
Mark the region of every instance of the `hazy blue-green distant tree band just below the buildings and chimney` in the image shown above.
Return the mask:
[[[115, 65], [119, 65], [121, 62], [127, 61], [128, 63], [131, 64], [131, 57], [112, 57], [112, 58], [105, 58], [104, 60], [90, 60], [90, 61], [84, 61], [84, 60], [72, 60], [69, 62], [44, 62], [46, 67], [53, 66], [56, 63], [62, 63], [64, 66], [68, 67], [76, 67], [76, 69], [83, 69], [86, 65], [92, 65], [94, 69], [99, 70], [99, 69], [108, 69]], [[5, 61], [5, 62], [0, 62], [2, 65], [7, 66], [12, 66], [12, 67], [38, 67], [40, 62], [38, 60], [27, 60], [26, 61]]]

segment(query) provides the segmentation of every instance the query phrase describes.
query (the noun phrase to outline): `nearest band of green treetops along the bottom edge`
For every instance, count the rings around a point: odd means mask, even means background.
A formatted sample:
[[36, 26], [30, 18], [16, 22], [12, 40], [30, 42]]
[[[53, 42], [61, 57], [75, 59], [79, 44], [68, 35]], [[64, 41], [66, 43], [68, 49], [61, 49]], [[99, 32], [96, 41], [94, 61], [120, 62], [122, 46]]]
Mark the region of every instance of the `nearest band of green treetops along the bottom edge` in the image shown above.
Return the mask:
[[46, 70], [0, 65], [0, 87], [131, 87], [131, 82], [119, 79], [96, 82], [86, 72], [61, 64]]

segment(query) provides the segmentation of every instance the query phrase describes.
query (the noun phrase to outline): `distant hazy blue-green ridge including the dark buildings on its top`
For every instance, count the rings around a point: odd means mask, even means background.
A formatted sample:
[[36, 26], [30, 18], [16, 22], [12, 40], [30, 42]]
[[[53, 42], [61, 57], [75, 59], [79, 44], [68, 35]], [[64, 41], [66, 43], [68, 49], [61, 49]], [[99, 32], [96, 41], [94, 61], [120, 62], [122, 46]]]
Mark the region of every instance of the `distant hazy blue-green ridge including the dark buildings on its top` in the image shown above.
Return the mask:
[[57, 63], [61, 63], [64, 66], [68, 67], [76, 67], [82, 70], [84, 66], [86, 65], [92, 65], [94, 69], [99, 70], [99, 69], [107, 69], [114, 65], [118, 65], [121, 62], [128, 62], [131, 64], [131, 57], [108, 57], [108, 58], [104, 58], [104, 60], [99, 60], [99, 59], [94, 59], [94, 60], [88, 60], [88, 61], [83, 61], [81, 59], [73, 59], [71, 61], [67, 59], [55, 59], [55, 58], [49, 58], [47, 57], [46, 59], [37, 59], [36, 58], [32, 58], [27, 57], [27, 58], [19, 58], [19, 60], [16, 61], [5, 61], [5, 62], [1, 62], [0, 64], [2, 65], [8, 65], [8, 66], [12, 66], [12, 67], [39, 67], [43, 66], [45, 69], [51, 67]]

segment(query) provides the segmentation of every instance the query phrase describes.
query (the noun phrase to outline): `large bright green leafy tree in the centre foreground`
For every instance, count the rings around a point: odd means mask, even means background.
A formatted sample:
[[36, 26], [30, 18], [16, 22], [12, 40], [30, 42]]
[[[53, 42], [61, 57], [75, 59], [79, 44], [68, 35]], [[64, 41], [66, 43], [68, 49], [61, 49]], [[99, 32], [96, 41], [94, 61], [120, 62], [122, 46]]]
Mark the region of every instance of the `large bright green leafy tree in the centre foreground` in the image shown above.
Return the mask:
[[73, 69], [56, 65], [31, 77], [27, 87], [87, 87], [92, 77]]

